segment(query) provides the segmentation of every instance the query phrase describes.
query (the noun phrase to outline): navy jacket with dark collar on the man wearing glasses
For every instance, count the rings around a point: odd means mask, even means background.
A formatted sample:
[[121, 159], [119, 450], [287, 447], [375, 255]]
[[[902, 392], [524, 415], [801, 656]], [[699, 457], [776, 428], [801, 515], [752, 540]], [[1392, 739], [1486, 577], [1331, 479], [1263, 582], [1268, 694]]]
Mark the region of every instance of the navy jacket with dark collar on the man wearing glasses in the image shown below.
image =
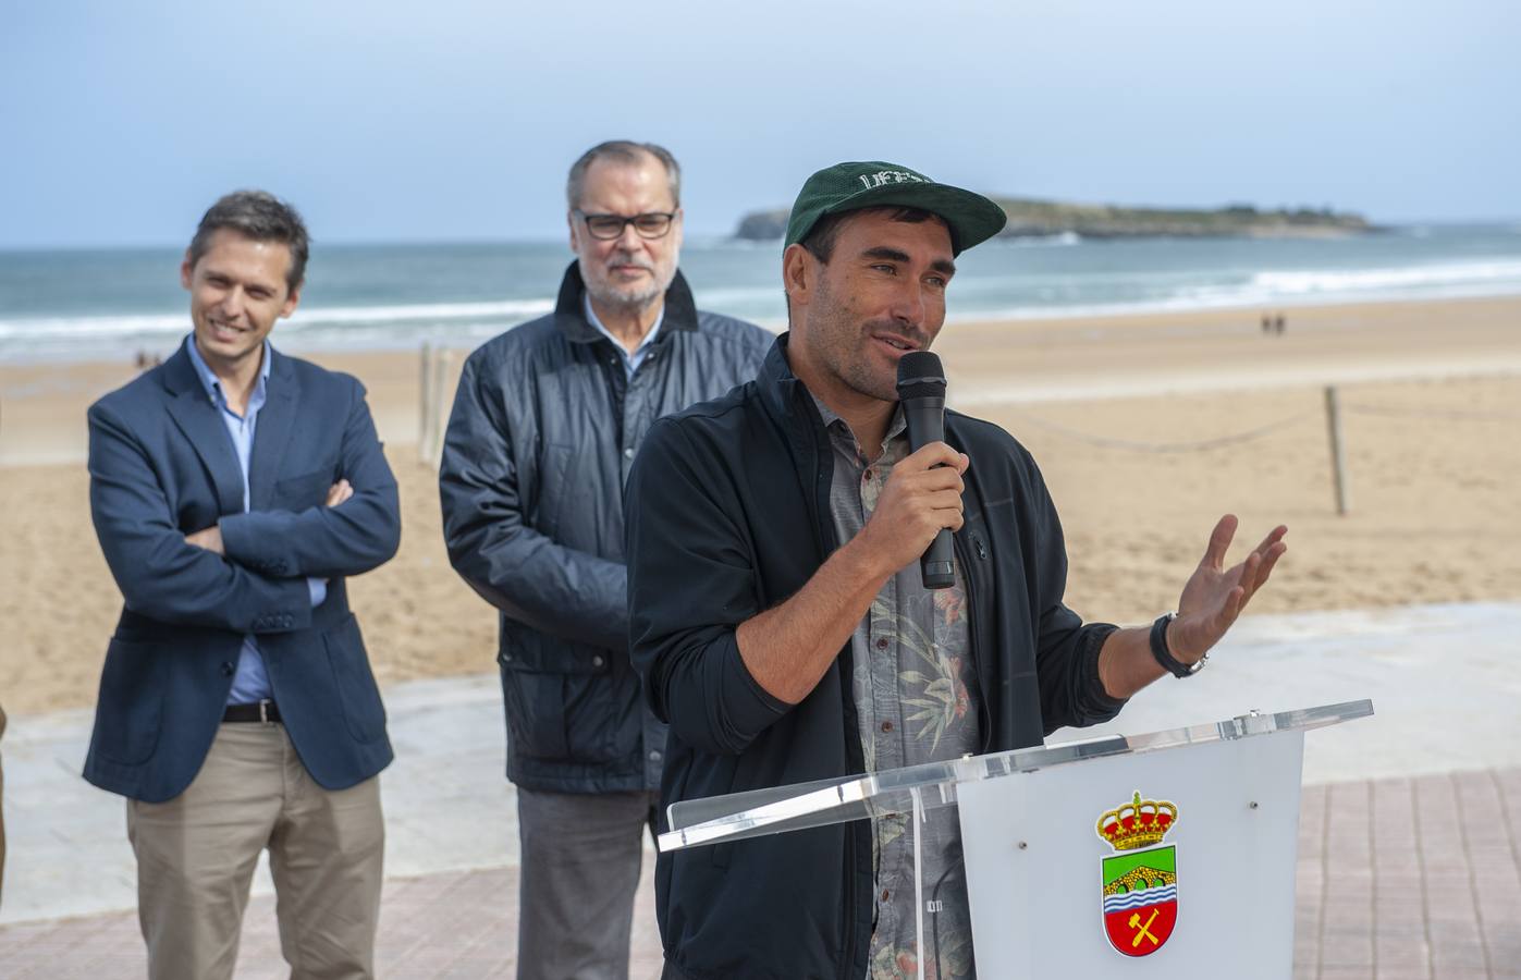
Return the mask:
[[555, 312], [465, 361], [438, 495], [455, 571], [500, 610], [506, 776], [554, 793], [654, 790], [665, 726], [628, 663], [624, 478], [660, 415], [754, 377], [773, 336], [700, 312], [677, 272], [633, 377], [586, 320], [578, 263]]

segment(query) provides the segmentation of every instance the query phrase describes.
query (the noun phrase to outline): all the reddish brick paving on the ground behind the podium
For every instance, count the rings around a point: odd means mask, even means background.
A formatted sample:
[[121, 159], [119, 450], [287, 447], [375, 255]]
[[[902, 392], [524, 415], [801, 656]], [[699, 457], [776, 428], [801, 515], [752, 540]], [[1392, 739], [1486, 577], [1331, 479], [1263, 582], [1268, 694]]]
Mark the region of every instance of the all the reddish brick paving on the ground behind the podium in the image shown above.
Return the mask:
[[[1521, 978], [1521, 768], [1307, 787], [1294, 980]], [[646, 855], [648, 857], [648, 855]], [[660, 974], [642, 878], [630, 975]], [[377, 969], [395, 980], [511, 977], [517, 870], [386, 881]], [[143, 974], [132, 913], [0, 927], [0, 977]], [[274, 899], [249, 902], [239, 980], [284, 977]], [[995, 978], [996, 980], [996, 978]]]

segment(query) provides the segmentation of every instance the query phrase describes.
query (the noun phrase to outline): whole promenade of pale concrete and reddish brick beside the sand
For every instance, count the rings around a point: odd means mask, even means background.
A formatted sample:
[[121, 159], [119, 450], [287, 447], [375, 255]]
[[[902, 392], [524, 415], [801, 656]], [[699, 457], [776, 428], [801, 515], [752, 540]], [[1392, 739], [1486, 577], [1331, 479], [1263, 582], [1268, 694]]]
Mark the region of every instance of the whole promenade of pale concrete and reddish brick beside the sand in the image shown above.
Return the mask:
[[[1249, 619], [1208, 671], [1129, 706], [1121, 730], [1370, 697], [1373, 718], [1307, 738], [1296, 977], [1521, 977], [1518, 635], [1521, 604]], [[517, 826], [499, 697], [490, 676], [386, 691], [383, 977], [513, 975]], [[122, 802], [78, 776], [88, 730], [88, 712], [62, 712], [6, 732], [0, 977], [143, 972]], [[659, 975], [649, 858], [636, 978]], [[254, 895], [237, 975], [283, 977], [263, 870]]]

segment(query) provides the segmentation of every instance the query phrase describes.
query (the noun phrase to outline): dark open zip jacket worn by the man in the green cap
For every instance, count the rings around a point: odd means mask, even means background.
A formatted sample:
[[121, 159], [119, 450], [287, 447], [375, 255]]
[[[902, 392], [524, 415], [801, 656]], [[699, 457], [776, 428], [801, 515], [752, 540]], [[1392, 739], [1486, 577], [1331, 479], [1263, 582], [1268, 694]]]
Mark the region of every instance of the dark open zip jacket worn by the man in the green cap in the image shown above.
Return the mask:
[[[1062, 604], [1066, 549], [1030, 453], [998, 426], [946, 412], [970, 457], [955, 536], [983, 691], [983, 752], [1107, 721], [1098, 650], [1115, 627]], [[736, 627], [802, 589], [838, 546], [829, 437], [786, 362], [656, 423], [628, 479], [634, 668], [669, 721], [662, 802], [862, 772], [850, 644], [797, 705], [767, 694]], [[656, 908], [666, 975], [864, 977], [872, 937], [865, 820], [662, 854]]]

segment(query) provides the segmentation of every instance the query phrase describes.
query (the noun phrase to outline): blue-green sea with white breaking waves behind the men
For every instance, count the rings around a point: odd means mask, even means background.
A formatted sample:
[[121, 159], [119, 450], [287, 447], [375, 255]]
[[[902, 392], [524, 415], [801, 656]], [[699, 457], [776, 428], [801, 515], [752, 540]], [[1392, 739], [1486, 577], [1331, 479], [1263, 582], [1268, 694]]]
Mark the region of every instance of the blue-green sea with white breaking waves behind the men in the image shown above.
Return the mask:
[[[164, 355], [189, 330], [178, 248], [0, 251], [0, 361]], [[313, 245], [287, 350], [473, 347], [554, 306], [563, 242]], [[697, 301], [780, 329], [776, 242], [692, 240]], [[1521, 294], [1521, 224], [1404, 227], [1343, 239], [1077, 236], [958, 259], [951, 317], [1027, 318]]]

